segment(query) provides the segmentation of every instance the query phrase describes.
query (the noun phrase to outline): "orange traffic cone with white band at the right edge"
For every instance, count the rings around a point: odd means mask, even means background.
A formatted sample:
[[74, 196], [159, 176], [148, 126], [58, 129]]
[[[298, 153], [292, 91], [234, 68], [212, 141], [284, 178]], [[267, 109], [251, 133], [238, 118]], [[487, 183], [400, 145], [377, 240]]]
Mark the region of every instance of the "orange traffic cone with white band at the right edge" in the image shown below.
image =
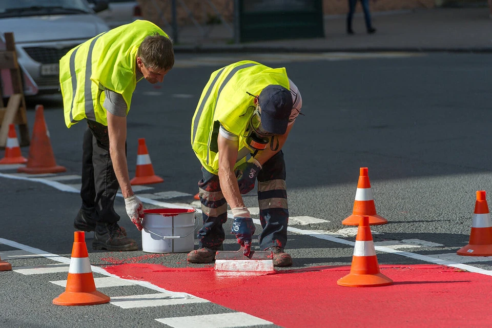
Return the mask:
[[491, 256], [492, 255], [492, 224], [488, 211], [485, 191], [477, 191], [473, 222], [468, 244], [459, 249], [456, 254], [465, 256]]

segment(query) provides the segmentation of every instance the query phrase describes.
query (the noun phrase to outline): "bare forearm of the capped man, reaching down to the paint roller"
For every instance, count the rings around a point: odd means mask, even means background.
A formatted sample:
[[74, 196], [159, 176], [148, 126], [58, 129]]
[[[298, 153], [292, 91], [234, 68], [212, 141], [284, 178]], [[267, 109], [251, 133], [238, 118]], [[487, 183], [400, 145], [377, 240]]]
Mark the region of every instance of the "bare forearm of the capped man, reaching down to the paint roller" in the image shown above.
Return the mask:
[[220, 189], [231, 209], [244, 207], [244, 202], [239, 192], [234, 165], [237, 160], [238, 141], [229, 140], [221, 134], [217, 137], [219, 149], [219, 181]]

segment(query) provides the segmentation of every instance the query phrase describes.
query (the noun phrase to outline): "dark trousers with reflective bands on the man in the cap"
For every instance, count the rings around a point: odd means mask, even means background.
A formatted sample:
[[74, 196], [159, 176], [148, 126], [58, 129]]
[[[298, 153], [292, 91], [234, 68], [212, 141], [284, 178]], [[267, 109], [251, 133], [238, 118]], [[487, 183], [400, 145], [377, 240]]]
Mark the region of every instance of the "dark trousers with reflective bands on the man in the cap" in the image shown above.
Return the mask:
[[[198, 182], [203, 227], [198, 231], [199, 247], [218, 249], [226, 238], [222, 224], [227, 221], [227, 202], [220, 189], [219, 177], [202, 168]], [[285, 187], [285, 161], [282, 151], [263, 164], [258, 179], [258, 206], [263, 231], [258, 242], [261, 250], [285, 247], [289, 207]]]

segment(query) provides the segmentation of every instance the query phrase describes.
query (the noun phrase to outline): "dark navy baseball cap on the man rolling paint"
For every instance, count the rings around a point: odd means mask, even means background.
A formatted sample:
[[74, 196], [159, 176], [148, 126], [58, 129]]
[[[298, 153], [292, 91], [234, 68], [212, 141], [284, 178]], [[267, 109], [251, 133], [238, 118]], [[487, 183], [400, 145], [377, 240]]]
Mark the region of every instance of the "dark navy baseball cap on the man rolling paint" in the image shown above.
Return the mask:
[[261, 127], [270, 133], [284, 134], [292, 112], [292, 94], [279, 85], [268, 85], [258, 96]]

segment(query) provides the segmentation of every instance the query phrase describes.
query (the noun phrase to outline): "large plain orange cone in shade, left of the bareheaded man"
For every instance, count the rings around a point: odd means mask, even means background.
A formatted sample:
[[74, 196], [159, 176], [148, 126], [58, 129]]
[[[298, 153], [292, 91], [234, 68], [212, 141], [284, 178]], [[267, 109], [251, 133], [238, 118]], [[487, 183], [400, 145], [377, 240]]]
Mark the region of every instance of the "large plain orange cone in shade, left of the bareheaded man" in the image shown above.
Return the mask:
[[63, 166], [56, 165], [43, 112], [43, 105], [37, 105], [27, 165], [26, 167], [18, 168], [17, 172], [39, 174], [67, 171]]

